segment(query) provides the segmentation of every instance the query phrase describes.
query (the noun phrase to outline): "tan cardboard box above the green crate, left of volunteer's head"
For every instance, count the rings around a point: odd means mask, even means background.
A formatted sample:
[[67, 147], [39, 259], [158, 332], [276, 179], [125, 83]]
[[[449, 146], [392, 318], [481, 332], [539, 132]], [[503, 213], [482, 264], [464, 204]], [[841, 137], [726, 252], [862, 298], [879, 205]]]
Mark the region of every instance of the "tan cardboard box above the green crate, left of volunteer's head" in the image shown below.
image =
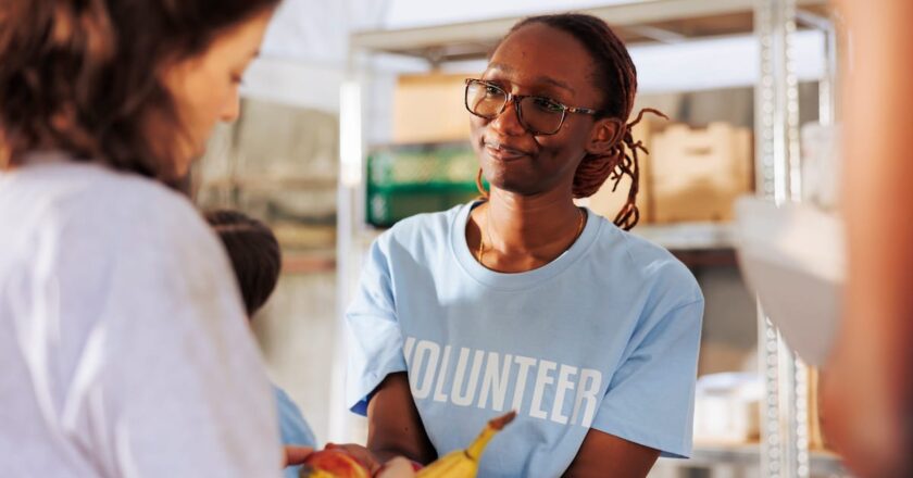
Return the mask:
[[393, 93], [393, 142], [445, 142], [470, 139], [465, 78], [472, 74], [403, 75]]

